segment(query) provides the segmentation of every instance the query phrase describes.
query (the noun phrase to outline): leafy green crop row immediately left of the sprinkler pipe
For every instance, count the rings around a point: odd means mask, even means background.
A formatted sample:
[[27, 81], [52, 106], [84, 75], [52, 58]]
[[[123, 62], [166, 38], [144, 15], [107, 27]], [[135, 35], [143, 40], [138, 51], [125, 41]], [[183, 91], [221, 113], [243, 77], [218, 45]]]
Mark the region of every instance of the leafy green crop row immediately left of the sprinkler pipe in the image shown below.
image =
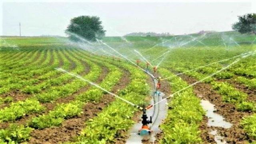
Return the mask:
[[[145, 104], [145, 97], [149, 93], [149, 87], [145, 80], [146, 75], [141, 70], [128, 64], [119, 63], [119, 65], [130, 71], [132, 79], [131, 83], [124, 90], [121, 90], [118, 95], [130, 102]], [[142, 90], [134, 91], [131, 89], [137, 87], [136, 84], [138, 83], [136, 82], [139, 82]], [[86, 122], [86, 127], [74, 143], [103, 144], [114, 142], [115, 136], [119, 135], [120, 130], [128, 130], [132, 126], [134, 122], [131, 117], [136, 111], [136, 108], [116, 99], [97, 117]]]

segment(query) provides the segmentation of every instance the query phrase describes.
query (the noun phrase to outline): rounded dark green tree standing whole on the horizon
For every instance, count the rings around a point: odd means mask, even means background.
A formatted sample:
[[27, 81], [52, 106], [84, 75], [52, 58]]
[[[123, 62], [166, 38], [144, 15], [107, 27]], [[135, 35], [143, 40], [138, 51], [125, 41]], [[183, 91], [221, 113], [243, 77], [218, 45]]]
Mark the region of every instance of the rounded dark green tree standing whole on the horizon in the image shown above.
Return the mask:
[[65, 33], [73, 41], [86, 39], [95, 41], [105, 36], [106, 30], [101, 25], [100, 18], [97, 16], [78, 16], [70, 20]]

